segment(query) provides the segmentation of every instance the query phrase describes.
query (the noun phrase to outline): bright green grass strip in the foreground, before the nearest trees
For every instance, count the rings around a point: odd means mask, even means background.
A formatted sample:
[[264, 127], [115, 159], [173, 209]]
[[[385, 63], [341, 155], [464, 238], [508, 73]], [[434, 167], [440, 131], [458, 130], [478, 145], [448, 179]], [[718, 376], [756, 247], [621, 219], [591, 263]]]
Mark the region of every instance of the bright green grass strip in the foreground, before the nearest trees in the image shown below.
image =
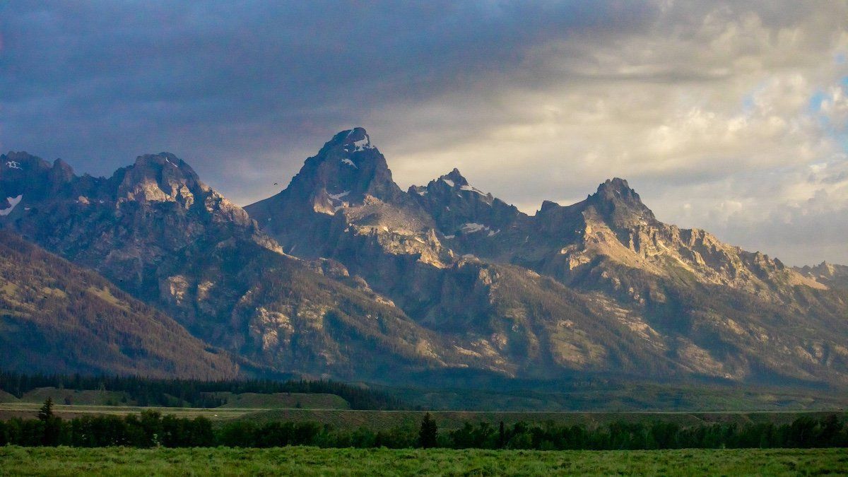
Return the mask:
[[845, 449], [483, 451], [0, 447], [0, 475], [846, 474]]

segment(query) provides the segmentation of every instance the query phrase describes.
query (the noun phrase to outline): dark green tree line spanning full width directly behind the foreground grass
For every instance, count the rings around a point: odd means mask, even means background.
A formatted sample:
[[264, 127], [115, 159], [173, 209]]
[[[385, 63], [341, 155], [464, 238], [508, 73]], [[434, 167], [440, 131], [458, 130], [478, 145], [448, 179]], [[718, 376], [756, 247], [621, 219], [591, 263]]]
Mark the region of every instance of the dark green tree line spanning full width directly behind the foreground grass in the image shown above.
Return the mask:
[[0, 421], [0, 445], [18, 446], [321, 446], [449, 447], [539, 450], [638, 450], [678, 448], [846, 447], [848, 423], [835, 415], [801, 417], [791, 424], [705, 424], [683, 428], [668, 422], [585, 425], [526, 424], [494, 427], [466, 423], [439, 432], [427, 415], [421, 427], [388, 430], [333, 429], [315, 422], [220, 426], [208, 418], [176, 418], [159, 412], [85, 416], [64, 420], [42, 407], [37, 419]]

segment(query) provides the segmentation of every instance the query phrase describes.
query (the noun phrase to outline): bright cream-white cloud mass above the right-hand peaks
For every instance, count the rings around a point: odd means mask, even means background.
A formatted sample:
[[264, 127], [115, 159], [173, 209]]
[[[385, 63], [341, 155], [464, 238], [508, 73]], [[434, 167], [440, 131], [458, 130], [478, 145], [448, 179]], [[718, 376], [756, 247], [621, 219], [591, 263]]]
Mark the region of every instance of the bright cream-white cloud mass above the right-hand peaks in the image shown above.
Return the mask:
[[671, 8], [642, 33], [538, 45], [529, 80], [496, 78], [497, 94], [451, 92], [424, 108], [448, 121], [420, 121], [409, 105], [376, 113], [397, 137], [384, 152], [401, 182], [459, 166], [531, 213], [626, 177], [667, 222], [791, 263], [848, 262], [848, 69], [834, 60], [848, 51], [848, 10], [809, 6], [778, 19], [735, 4], [700, 17]]

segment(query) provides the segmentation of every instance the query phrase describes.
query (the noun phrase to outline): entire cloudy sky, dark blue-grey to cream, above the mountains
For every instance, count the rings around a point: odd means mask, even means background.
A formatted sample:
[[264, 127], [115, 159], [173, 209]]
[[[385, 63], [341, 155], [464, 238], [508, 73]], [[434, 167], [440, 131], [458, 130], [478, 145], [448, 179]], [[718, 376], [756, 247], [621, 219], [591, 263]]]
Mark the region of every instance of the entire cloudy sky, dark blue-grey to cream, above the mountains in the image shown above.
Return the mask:
[[172, 152], [240, 205], [364, 126], [403, 188], [527, 213], [609, 177], [663, 222], [848, 264], [848, 3], [0, 3], [0, 150]]

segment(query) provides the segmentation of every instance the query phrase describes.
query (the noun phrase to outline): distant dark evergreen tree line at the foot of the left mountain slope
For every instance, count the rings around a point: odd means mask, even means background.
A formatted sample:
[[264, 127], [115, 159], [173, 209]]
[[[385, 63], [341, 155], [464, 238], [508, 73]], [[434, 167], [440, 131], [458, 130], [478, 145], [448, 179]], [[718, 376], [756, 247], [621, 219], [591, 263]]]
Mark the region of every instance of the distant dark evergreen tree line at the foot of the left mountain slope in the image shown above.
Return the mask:
[[341, 396], [353, 409], [399, 409], [401, 402], [388, 393], [335, 381], [306, 379], [279, 381], [244, 379], [149, 379], [139, 376], [85, 376], [81, 374], [22, 374], [0, 371], [0, 390], [20, 398], [36, 388], [109, 390], [126, 393], [138, 406], [219, 407], [225, 400], [211, 393], [271, 394], [278, 392], [326, 393]]

